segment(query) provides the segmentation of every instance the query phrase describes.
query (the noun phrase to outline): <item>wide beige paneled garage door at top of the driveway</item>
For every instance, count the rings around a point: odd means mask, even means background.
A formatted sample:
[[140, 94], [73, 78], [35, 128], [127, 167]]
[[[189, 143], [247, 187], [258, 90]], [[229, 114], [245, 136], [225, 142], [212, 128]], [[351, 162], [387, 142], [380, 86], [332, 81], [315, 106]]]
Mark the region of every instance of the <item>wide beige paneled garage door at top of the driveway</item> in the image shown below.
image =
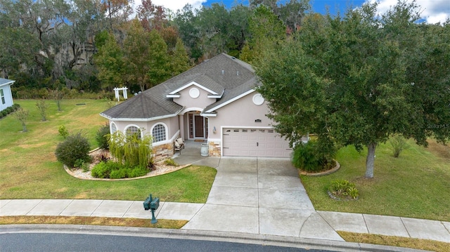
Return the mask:
[[224, 128], [224, 156], [290, 157], [289, 142], [271, 128]]

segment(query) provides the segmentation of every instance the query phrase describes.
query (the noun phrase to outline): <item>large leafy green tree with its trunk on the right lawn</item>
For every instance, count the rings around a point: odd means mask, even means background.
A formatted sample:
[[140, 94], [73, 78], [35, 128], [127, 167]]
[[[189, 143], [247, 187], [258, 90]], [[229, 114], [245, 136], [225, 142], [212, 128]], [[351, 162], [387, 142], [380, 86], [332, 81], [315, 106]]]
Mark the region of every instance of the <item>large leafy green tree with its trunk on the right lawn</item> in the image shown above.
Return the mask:
[[276, 130], [293, 145], [317, 133], [323, 146], [366, 146], [367, 178], [376, 146], [394, 133], [420, 145], [450, 139], [450, 24], [417, 23], [417, 6], [405, 2], [376, 9], [309, 15], [255, 62]]

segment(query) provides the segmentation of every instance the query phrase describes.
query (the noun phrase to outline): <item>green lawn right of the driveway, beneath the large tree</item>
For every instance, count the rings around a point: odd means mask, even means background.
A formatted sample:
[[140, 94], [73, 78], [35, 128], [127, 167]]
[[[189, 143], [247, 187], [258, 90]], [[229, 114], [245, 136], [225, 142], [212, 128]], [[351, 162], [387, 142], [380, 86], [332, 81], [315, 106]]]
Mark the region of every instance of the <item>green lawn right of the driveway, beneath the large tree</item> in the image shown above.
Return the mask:
[[[341, 168], [323, 177], [300, 175], [316, 210], [394, 215], [450, 221], [450, 147], [430, 140], [428, 148], [409, 140], [411, 147], [392, 157], [389, 143], [376, 149], [374, 178], [364, 178], [366, 150], [342, 148]], [[335, 201], [326, 191], [332, 180], [356, 184], [359, 199]]]

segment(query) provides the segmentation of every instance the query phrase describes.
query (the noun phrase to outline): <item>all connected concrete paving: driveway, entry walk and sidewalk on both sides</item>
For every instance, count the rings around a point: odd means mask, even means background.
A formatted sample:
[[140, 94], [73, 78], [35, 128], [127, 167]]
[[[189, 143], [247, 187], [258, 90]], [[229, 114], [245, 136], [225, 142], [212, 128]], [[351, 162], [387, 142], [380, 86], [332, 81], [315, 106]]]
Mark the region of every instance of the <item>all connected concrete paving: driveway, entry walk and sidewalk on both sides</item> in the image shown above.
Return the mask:
[[[194, 147], [186, 147], [175, 161], [217, 169], [206, 204], [160, 202], [155, 213], [157, 219], [188, 220], [183, 230], [323, 241], [343, 241], [336, 231], [347, 231], [450, 243], [449, 222], [316, 211], [289, 159], [201, 157], [200, 145], [191, 145]], [[0, 200], [0, 216], [150, 219], [150, 211], [143, 209], [143, 200], [4, 199]]]

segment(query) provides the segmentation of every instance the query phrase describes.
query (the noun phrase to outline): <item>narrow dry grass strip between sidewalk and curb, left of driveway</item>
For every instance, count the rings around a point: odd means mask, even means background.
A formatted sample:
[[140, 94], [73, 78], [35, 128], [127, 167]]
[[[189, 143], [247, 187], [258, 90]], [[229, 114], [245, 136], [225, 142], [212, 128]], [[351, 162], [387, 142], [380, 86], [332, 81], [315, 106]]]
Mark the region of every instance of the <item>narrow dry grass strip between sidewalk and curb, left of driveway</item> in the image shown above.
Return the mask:
[[156, 227], [180, 229], [188, 223], [187, 220], [164, 220], [151, 224], [150, 219], [138, 218], [105, 218], [81, 216], [2, 216], [0, 225], [18, 224], [61, 224], [61, 225], [101, 225], [120, 227]]

